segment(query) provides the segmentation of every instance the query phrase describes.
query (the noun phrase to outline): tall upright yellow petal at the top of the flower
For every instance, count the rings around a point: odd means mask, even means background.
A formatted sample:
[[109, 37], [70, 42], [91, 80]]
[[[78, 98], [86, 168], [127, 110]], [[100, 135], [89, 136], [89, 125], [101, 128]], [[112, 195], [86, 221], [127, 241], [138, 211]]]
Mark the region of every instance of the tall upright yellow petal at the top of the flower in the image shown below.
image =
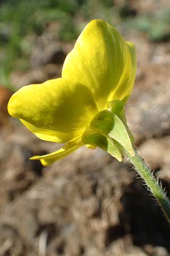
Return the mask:
[[113, 100], [111, 97], [114, 90], [118, 89], [120, 80], [124, 96], [131, 91], [131, 88], [124, 90], [122, 86], [123, 82], [126, 86], [127, 81], [133, 80], [131, 75], [134, 76], [131, 71], [131, 56], [134, 52], [130, 49], [129, 43], [115, 28], [104, 20], [92, 20], [67, 55], [62, 77], [88, 86], [98, 109], [103, 110], [108, 98]]

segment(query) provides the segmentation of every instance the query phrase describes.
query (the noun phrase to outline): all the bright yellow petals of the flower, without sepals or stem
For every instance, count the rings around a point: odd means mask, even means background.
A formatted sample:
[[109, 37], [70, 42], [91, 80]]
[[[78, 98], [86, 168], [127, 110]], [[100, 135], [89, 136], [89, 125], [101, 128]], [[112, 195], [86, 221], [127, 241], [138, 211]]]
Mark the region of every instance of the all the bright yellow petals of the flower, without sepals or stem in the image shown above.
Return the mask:
[[[43, 53], [42, 53], [43, 54]], [[108, 102], [126, 103], [135, 79], [135, 51], [104, 20], [92, 20], [67, 55], [62, 78], [24, 86], [13, 94], [8, 112], [40, 139], [66, 143], [33, 156], [47, 166], [83, 146], [82, 134]]]

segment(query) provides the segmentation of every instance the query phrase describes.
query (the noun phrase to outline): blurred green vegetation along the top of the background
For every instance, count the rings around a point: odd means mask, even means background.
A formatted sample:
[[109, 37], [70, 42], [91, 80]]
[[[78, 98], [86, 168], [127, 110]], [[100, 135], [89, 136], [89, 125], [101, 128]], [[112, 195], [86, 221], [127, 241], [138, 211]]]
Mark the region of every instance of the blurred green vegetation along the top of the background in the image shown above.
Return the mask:
[[29, 68], [29, 56], [49, 23], [58, 22], [57, 39], [76, 39], [91, 19], [146, 32], [151, 40], [169, 40], [168, 10], [152, 15], [138, 15], [128, 1], [113, 0], [1, 0], [0, 1], [0, 83], [11, 86], [11, 71]]

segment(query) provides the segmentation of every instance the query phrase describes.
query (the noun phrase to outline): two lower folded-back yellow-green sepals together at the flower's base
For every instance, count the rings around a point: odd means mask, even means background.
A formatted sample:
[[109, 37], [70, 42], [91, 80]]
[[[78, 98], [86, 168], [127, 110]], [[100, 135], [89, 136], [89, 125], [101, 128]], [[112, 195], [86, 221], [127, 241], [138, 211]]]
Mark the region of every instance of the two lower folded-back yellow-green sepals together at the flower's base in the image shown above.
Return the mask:
[[122, 147], [131, 156], [135, 154], [126, 123], [110, 110], [103, 110], [95, 115], [82, 135], [82, 142], [102, 148], [120, 162], [124, 156]]

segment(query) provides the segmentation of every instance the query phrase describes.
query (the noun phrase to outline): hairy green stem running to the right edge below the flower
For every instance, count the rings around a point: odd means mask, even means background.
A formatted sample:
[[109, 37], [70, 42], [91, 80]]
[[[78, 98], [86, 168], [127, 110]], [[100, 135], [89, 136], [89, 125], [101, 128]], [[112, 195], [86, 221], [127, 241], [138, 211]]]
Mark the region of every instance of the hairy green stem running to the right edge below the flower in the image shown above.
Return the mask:
[[135, 156], [131, 156], [124, 148], [122, 148], [122, 151], [124, 155], [127, 156], [130, 162], [133, 164], [138, 174], [145, 181], [148, 189], [151, 191], [152, 195], [158, 201], [160, 207], [162, 208], [165, 214], [165, 217], [167, 218], [170, 224], [170, 202], [168, 197], [166, 196], [165, 191], [162, 188], [162, 185], [160, 185], [159, 181], [155, 179], [150, 168], [147, 167], [146, 163], [143, 161], [141, 156], [139, 156], [136, 150]]

